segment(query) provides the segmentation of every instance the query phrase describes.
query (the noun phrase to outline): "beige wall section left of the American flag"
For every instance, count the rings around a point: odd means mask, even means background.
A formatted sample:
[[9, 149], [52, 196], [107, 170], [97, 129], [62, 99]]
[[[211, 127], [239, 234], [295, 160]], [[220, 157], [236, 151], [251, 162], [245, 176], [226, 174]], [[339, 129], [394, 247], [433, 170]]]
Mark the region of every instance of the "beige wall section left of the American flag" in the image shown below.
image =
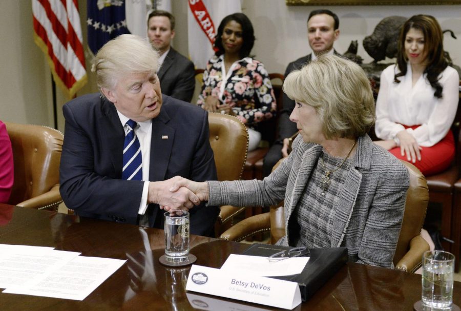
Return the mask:
[[33, 41], [30, 1], [0, 3], [0, 119], [52, 125], [50, 71]]

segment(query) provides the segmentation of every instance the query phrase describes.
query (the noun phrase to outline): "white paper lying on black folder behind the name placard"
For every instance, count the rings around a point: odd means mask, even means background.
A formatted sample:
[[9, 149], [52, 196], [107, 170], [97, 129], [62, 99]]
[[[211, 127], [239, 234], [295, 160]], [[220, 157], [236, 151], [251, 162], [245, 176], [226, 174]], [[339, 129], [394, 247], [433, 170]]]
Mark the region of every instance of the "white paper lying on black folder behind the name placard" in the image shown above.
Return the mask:
[[226, 272], [238, 271], [260, 277], [278, 277], [300, 274], [309, 257], [291, 257], [269, 262], [267, 257], [231, 254], [221, 267]]

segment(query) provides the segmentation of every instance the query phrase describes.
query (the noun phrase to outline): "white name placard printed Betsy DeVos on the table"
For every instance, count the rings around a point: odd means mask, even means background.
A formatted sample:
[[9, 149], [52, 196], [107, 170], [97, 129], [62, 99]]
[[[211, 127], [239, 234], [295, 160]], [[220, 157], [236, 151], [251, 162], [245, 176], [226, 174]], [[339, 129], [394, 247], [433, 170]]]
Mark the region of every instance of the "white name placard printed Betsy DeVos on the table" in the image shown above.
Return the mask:
[[258, 277], [220, 269], [192, 265], [187, 291], [278, 308], [292, 309], [301, 303], [298, 283]]

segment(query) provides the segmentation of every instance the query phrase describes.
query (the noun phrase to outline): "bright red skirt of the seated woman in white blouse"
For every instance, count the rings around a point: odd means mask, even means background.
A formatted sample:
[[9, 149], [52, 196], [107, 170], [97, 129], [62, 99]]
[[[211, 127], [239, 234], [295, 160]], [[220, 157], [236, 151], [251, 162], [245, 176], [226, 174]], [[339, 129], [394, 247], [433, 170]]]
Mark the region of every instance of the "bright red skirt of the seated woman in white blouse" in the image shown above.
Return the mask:
[[[412, 128], [414, 130], [419, 126], [408, 127], [404, 125], [404, 127], [406, 129]], [[455, 156], [453, 133], [449, 130], [447, 135], [445, 135], [441, 141], [434, 144], [434, 146], [421, 148], [421, 161], [416, 159], [415, 163], [412, 161], [409, 162], [417, 167], [426, 177], [441, 173], [450, 167], [450, 164]], [[389, 152], [398, 159], [408, 161], [407, 155], [401, 155], [400, 147], [395, 147], [389, 150]]]

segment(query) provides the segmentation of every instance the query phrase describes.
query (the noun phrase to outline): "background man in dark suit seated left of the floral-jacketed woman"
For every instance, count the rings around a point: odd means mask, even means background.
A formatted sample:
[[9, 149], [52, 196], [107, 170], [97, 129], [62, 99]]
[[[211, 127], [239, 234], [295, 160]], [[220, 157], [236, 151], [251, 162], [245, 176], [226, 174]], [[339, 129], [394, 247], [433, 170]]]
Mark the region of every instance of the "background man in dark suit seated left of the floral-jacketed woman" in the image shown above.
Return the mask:
[[149, 14], [148, 36], [160, 53], [159, 70], [162, 93], [176, 99], [191, 102], [195, 89], [195, 69], [192, 61], [171, 47], [175, 36], [175, 17], [166, 11]]

